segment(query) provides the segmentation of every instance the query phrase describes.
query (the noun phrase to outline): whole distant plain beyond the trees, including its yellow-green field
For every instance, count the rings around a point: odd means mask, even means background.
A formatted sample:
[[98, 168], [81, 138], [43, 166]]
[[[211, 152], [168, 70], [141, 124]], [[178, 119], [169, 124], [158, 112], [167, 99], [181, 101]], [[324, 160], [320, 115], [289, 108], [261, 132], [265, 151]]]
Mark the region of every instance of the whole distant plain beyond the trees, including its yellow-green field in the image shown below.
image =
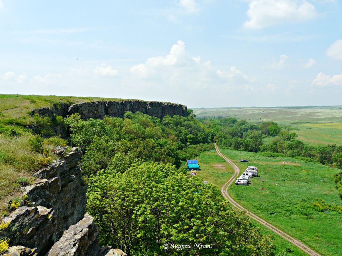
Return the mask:
[[[297, 139], [310, 145], [342, 145], [342, 106], [292, 108], [201, 108], [193, 109], [197, 118], [235, 117], [249, 123], [273, 121], [289, 126]], [[273, 138], [267, 138], [265, 142]]]

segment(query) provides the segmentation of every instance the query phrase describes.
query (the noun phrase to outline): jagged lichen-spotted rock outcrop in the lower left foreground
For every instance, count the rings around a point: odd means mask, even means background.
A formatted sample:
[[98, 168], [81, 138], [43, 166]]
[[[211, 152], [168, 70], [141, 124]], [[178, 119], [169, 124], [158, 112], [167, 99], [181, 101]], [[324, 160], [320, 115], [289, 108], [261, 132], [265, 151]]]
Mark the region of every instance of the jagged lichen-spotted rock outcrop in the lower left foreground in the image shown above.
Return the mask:
[[23, 187], [20, 207], [0, 223], [0, 237], [11, 245], [5, 255], [115, 255], [108, 246], [100, 250], [94, 219], [84, 215], [87, 186], [78, 165], [82, 152], [76, 147], [56, 153], [61, 159], [34, 174], [37, 181]]

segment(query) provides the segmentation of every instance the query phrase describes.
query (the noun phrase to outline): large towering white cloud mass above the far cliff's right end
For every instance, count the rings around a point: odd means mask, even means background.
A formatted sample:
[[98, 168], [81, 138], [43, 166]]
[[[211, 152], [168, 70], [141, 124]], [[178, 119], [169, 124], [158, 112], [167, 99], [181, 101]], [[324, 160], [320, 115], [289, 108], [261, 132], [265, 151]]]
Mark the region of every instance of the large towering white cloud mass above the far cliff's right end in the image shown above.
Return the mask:
[[168, 55], [148, 58], [144, 63], [131, 67], [130, 72], [131, 80], [127, 83], [135, 86], [136, 90], [148, 88], [158, 90], [160, 94], [168, 93], [170, 87], [189, 92], [203, 90], [203, 94], [211, 93], [214, 88], [223, 91], [251, 89], [250, 83], [255, 81], [235, 66], [227, 71], [216, 70], [210, 60], [190, 56], [183, 41], [174, 44]]

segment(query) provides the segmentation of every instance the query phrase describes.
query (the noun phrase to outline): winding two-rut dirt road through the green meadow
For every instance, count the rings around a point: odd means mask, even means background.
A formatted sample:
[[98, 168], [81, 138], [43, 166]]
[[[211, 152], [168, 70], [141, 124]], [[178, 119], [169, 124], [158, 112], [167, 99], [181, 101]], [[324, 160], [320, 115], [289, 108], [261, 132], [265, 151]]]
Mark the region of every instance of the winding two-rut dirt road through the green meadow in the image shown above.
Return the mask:
[[245, 209], [244, 207], [242, 207], [240, 204], [238, 204], [237, 202], [235, 202], [231, 196], [229, 196], [228, 194], [228, 187], [230, 185], [232, 185], [232, 183], [234, 182], [234, 180], [236, 179], [236, 176], [239, 174], [240, 169], [239, 167], [237, 167], [231, 160], [229, 160], [227, 157], [225, 157], [224, 155], [221, 154], [219, 147], [216, 145], [215, 143], [215, 148], [216, 148], [216, 152], [223, 157], [230, 165], [233, 166], [234, 168], [234, 175], [226, 182], [226, 184], [223, 185], [223, 187], [221, 188], [221, 193], [222, 195], [227, 198], [229, 200], [229, 202], [231, 202], [236, 208], [247, 212], [247, 214], [252, 218], [255, 219], [257, 222], [261, 223], [262, 225], [264, 225], [265, 227], [271, 229], [273, 232], [277, 233], [279, 236], [281, 236], [282, 238], [285, 238], [287, 241], [289, 241], [290, 243], [294, 244], [295, 246], [297, 246], [298, 248], [300, 248], [301, 250], [303, 250], [305, 253], [307, 253], [308, 255], [311, 256], [321, 256], [320, 254], [316, 253], [315, 251], [313, 251], [312, 249], [310, 249], [309, 247], [307, 247], [305, 244], [303, 244], [301, 241], [294, 239], [293, 237], [290, 237], [288, 234], [286, 234], [285, 232], [281, 231], [280, 229], [276, 228], [275, 226], [269, 224], [268, 222], [264, 221], [262, 218], [259, 218], [257, 215], [251, 213], [250, 211], [248, 211], [247, 209]]

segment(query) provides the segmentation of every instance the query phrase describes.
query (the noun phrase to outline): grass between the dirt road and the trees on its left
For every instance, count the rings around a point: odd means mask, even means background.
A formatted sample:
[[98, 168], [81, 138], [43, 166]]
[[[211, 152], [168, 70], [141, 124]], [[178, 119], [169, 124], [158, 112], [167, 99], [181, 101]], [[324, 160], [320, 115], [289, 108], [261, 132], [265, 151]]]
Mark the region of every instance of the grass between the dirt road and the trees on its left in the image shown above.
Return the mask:
[[[203, 179], [203, 181], [209, 181], [220, 188], [234, 173], [233, 167], [229, 165], [222, 157], [220, 157], [214, 150], [201, 153], [197, 160], [201, 167], [201, 170], [197, 171], [198, 177]], [[256, 226], [260, 227], [262, 234], [273, 235], [273, 243], [277, 247], [276, 253], [284, 251], [285, 248], [290, 248], [293, 251], [291, 253], [292, 256], [305, 255], [300, 249], [292, 245], [290, 242], [281, 238], [266, 227], [260, 225], [260, 223], [254, 220], [252, 221]]]

